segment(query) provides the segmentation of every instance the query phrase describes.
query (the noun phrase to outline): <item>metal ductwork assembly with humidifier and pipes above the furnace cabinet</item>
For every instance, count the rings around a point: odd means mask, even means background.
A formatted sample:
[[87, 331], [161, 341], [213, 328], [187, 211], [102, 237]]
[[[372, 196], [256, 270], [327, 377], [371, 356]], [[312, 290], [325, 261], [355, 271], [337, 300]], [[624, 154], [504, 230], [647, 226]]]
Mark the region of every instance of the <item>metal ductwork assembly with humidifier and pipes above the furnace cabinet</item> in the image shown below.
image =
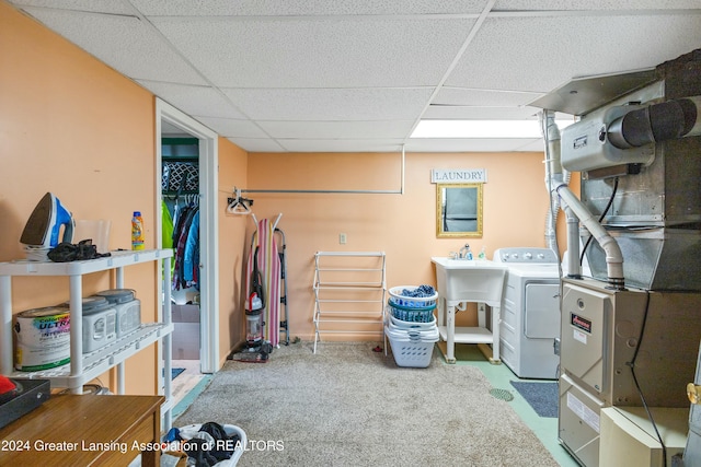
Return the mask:
[[654, 70], [579, 79], [540, 103], [579, 117], [561, 135], [560, 162], [581, 172], [581, 196], [562, 183], [550, 188], [596, 240], [586, 250], [591, 276], [613, 288], [624, 278], [701, 291], [701, 49]]

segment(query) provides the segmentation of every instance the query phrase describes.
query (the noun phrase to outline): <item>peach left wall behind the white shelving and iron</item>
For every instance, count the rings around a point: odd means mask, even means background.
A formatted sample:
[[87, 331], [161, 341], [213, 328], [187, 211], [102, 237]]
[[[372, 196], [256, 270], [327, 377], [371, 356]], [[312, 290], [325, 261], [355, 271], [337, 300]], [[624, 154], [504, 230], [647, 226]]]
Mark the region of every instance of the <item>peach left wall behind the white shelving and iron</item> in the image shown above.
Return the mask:
[[[0, 261], [23, 257], [19, 243], [36, 202], [54, 192], [76, 219], [112, 221], [111, 248], [130, 248], [140, 210], [154, 247], [154, 100], [74, 45], [0, 2]], [[83, 281], [83, 294], [113, 287], [108, 272]], [[156, 313], [156, 266], [125, 270], [145, 320]], [[37, 293], [38, 292], [38, 293]], [[66, 278], [16, 278], [13, 310], [51, 306]], [[128, 360], [126, 389], [154, 394], [154, 346]], [[110, 375], [101, 377], [111, 383]]]

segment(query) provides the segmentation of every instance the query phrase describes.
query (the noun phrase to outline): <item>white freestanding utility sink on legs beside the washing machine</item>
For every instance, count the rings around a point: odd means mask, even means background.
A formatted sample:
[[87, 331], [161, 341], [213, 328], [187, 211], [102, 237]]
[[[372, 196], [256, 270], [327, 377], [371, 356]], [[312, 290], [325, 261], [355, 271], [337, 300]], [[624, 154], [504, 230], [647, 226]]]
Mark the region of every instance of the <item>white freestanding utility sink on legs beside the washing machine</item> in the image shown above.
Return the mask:
[[[506, 266], [487, 259], [453, 259], [435, 256], [438, 285], [438, 329], [446, 341], [446, 361], [455, 363], [456, 343], [478, 343], [492, 363], [499, 363], [499, 319]], [[456, 328], [455, 315], [464, 311], [468, 302], [492, 307], [492, 330], [485, 327], [484, 306], [478, 307], [478, 327]], [[483, 346], [491, 345], [492, 348]]]

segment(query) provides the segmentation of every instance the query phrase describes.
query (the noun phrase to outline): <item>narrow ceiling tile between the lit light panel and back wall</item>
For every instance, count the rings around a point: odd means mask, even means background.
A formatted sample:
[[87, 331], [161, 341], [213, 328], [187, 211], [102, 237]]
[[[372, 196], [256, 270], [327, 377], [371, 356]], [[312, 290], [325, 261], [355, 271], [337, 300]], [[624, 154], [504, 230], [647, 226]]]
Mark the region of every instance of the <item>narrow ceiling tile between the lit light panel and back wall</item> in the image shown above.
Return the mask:
[[[513, 152], [522, 151], [519, 148], [539, 139], [426, 139], [412, 138], [406, 141], [404, 150], [407, 152]], [[541, 148], [542, 149], [542, 148]]]

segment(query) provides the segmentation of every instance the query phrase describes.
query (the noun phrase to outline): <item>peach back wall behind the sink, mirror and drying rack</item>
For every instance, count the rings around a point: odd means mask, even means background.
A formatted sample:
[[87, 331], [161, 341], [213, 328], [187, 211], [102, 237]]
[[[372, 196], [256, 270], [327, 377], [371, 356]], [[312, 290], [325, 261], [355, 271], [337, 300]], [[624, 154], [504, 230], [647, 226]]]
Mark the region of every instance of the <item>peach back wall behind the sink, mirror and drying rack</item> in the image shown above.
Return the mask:
[[[258, 219], [283, 213], [279, 226], [287, 236], [291, 334], [313, 339], [311, 284], [318, 250], [386, 252], [387, 284], [391, 288], [435, 285], [430, 257], [446, 256], [466, 242], [475, 252], [484, 245], [490, 258], [499, 247], [545, 246], [548, 192], [542, 160], [538, 152], [407, 153], [404, 195], [249, 195], [255, 200]], [[436, 237], [432, 168], [486, 170], [482, 238]], [[249, 156], [248, 187], [399, 190], [400, 171], [401, 154], [255, 153]], [[340, 233], [347, 234], [347, 244], [338, 243]], [[457, 323], [469, 325], [475, 319], [473, 313], [466, 312], [458, 315]]]

